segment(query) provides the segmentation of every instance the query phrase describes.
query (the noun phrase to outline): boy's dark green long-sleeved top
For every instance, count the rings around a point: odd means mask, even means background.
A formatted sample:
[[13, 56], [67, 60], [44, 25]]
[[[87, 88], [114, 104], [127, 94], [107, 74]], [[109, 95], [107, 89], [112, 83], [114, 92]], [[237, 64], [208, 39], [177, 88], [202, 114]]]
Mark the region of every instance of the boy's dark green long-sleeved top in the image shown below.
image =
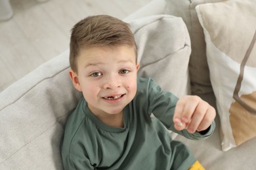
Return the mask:
[[[196, 158], [178, 141], [172, 141], [177, 97], [162, 92], [151, 78], [138, 78], [137, 95], [124, 109], [125, 127], [106, 126], [81, 99], [66, 123], [61, 146], [64, 169], [188, 169]], [[156, 118], [150, 116], [154, 113]], [[162, 123], [161, 123], [162, 122]], [[204, 135], [175, 131], [189, 139]]]

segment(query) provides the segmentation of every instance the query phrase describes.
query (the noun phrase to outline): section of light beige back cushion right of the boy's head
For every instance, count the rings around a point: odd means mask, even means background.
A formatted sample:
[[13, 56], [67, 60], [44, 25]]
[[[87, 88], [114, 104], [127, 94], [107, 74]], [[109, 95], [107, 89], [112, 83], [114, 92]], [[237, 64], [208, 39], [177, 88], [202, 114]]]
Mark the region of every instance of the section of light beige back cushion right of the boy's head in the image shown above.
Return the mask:
[[130, 23], [139, 47], [139, 75], [154, 77], [163, 90], [178, 97], [190, 93], [190, 38], [182, 19], [156, 15]]

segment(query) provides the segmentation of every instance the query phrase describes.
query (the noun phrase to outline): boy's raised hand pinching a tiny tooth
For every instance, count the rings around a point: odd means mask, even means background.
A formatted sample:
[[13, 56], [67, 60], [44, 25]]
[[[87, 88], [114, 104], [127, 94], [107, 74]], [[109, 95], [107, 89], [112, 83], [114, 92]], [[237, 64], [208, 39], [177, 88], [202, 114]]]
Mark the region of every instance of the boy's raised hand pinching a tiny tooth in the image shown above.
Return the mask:
[[175, 129], [189, 133], [207, 129], [216, 116], [215, 109], [195, 95], [185, 95], [177, 102], [173, 122]]

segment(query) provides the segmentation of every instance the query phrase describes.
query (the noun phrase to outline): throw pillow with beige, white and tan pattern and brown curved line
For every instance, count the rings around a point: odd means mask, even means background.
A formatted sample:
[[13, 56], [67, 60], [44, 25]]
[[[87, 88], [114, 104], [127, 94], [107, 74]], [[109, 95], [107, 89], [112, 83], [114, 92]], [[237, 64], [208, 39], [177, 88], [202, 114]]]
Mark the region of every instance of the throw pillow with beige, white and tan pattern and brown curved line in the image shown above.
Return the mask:
[[207, 44], [224, 151], [256, 137], [255, 9], [255, 0], [196, 7]]

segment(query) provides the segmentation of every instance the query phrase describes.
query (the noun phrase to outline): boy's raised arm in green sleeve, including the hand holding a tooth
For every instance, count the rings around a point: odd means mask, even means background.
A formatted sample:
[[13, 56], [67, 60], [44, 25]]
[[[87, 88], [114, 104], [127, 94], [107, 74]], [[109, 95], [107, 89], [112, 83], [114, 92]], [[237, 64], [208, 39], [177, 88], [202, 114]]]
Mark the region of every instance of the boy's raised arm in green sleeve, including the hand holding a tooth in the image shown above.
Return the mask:
[[212, 135], [215, 109], [200, 97], [186, 95], [179, 99], [173, 93], [162, 91], [154, 80], [148, 88], [148, 113], [152, 112], [167, 129], [194, 140]]

